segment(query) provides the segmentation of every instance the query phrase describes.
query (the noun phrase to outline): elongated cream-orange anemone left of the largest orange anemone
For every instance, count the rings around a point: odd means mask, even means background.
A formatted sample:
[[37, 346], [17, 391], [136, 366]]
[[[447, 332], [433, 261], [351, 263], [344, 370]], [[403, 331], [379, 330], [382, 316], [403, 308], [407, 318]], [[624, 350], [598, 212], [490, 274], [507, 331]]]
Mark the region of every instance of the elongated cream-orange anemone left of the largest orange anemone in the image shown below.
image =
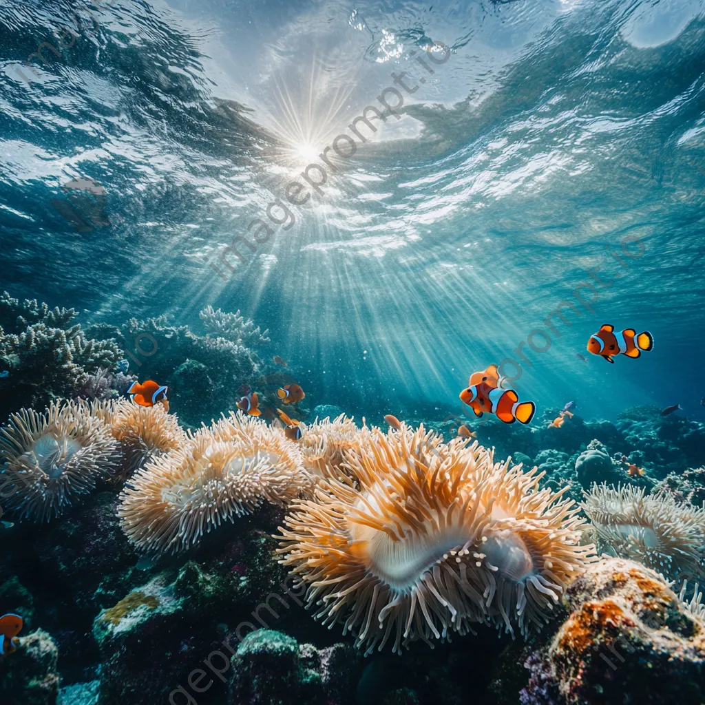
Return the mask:
[[294, 443], [231, 413], [151, 458], [123, 489], [118, 517], [140, 550], [178, 553], [264, 503], [286, 507], [311, 494], [314, 482]]

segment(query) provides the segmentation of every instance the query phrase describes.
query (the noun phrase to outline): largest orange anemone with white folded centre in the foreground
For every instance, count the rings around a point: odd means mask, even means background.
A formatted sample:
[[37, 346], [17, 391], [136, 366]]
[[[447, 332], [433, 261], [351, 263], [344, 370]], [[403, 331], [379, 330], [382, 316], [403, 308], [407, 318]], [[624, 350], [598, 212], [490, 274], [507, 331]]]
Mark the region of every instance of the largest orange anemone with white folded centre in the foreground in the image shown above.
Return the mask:
[[477, 442], [372, 429], [344, 465], [355, 482], [321, 479], [286, 516], [278, 553], [314, 618], [366, 654], [474, 623], [527, 635], [594, 559], [572, 500]]

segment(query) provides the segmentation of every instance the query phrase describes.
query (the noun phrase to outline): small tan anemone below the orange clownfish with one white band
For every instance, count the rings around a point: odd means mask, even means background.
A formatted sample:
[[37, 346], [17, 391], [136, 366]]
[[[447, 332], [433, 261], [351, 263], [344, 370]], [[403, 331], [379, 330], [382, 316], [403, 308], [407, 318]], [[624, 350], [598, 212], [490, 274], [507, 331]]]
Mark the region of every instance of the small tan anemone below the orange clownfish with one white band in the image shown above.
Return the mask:
[[94, 415], [106, 421], [113, 437], [120, 441], [125, 458], [123, 473], [129, 477], [148, 458], [177, 450], [187, 441], [176, 416], [164, 406], [139, 406], [128, 400], [94, 403]]

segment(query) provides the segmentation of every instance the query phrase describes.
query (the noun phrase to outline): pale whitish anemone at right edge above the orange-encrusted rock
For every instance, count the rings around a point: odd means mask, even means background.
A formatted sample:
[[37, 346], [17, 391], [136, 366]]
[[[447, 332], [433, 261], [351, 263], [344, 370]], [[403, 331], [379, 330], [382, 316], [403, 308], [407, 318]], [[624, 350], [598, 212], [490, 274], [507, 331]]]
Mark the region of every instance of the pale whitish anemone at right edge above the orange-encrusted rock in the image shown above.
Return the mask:
[[705, 575], [705, 510], [635, 486], [594, 485], [583, 504], [599, 551], [631, 558], [670, 579]]

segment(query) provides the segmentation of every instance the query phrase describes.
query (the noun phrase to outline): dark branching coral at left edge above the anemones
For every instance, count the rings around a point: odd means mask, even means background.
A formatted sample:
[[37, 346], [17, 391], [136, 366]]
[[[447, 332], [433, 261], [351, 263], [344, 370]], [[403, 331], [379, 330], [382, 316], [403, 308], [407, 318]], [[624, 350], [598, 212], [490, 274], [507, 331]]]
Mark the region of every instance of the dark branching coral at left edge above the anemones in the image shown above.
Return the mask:
[[90, 376], [112, 369], [123, 353], [112, 339], [90, 340], [74, 309], [0, 295], [0, 421], [21, 406], [43, 409], [90, 388]]

